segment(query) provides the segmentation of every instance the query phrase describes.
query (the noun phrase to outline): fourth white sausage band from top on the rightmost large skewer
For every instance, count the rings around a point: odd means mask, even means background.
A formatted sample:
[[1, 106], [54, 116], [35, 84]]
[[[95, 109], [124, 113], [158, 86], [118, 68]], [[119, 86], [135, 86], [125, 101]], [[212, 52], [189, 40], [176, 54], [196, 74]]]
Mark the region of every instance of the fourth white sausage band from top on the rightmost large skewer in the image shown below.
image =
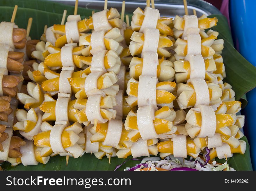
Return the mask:
[[203, 78], [192, 78], [187, 83], [191, 82], [194, 86], [196, 102], [195, 107], [198, 105], [210, 105], [210, 94], [207, 83]]

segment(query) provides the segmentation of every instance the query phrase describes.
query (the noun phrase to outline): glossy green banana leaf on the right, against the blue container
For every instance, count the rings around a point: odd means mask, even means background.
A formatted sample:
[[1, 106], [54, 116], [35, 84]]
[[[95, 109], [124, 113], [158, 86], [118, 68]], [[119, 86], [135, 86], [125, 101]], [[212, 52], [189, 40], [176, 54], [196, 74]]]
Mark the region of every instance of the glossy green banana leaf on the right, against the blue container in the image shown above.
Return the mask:
[[224, 15], [210, 15], [209, 17], [217, 17], [217, 26], [212, 29], [219, 32], [218, 39], [224, 39], [222, 56], [227, 73], [224, 81], [232, 85], [232, 89], [236, 92], [236, 100], [241, 99], [242, 108], [244, 108], [247, 104], [245, 94], [256, 86], [256, 68], [234, 48], [226, 17]]

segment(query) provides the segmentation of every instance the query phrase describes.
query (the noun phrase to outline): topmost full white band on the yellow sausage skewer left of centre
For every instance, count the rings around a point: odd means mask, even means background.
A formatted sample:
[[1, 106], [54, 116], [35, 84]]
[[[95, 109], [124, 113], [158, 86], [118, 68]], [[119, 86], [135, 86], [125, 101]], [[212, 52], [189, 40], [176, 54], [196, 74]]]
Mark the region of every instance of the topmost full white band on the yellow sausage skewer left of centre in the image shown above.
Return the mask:
[[76, 42], [76, 43], [79, 42], [80, 34], [78, 30], [77, 21], [66, 22], [65, 30], [66, 30], [67, 43], [70, 43], [71, 39], [73, 40], [73, 42]]

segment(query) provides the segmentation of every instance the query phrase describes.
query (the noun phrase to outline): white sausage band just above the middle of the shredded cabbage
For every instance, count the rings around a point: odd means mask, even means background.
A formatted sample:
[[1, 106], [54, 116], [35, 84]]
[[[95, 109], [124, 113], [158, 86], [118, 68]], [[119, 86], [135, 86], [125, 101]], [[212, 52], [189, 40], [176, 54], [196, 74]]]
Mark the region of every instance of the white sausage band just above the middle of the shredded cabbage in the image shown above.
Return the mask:
[[187, 157], [187, 138], [186, 135], [177, 135], [172, 138], [173, 140], [173, 156], [174, 157]]

